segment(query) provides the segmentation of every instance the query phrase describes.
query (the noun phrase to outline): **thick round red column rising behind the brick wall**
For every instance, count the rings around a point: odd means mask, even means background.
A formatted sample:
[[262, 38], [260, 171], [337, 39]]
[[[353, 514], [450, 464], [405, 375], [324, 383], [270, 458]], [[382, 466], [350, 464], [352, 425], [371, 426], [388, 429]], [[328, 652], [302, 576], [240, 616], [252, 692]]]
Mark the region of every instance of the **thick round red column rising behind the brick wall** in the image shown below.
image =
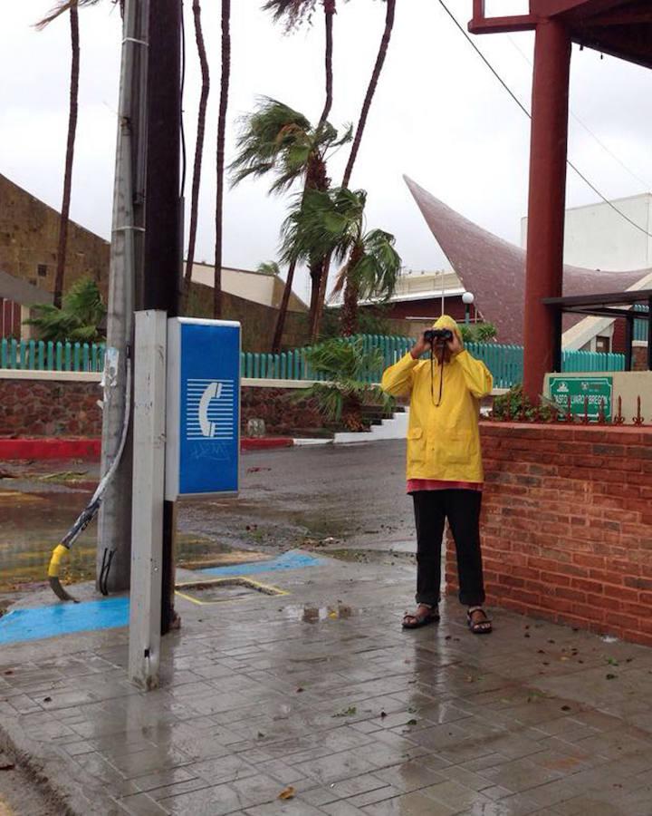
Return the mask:
[[537, 25], [532, 79], [530, 200], [525, 261], [523, 390], [532, 401], [554, 355], [554, 315], [542, 297], [561, 296], [570, 36], [564, 25]]

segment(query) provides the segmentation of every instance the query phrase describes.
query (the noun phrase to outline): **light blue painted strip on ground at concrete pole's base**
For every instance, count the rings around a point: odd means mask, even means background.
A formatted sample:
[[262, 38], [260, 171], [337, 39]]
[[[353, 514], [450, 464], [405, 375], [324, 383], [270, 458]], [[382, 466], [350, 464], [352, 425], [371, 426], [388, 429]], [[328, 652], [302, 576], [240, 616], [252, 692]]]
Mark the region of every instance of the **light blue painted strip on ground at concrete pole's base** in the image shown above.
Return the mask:
[[0, 617], [0, 645], [129, 625], [129, 597], [14, 609]]

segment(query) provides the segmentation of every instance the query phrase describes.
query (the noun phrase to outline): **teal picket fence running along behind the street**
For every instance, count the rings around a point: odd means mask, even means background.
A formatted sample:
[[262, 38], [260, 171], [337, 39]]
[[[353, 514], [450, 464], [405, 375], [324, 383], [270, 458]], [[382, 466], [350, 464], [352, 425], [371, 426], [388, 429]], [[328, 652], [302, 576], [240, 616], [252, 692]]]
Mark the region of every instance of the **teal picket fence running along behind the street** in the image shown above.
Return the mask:
[[[645, 321], [636, 324], [645, 325]], [[409, 337], [359, 335], [365, 351], [378, 348], [383, 367], [395, 363], [414, 344]], [[484, 361], [494, 375], [496, 388], [509, 388], [523, 381], [523, 346], [498, 343], [469, 343], [472, 355]], [[326, 376], [312, 371], [306, 360], [310, 350], [298, 348], [280, 355], [244, 352], [241, 372], [244, 377], [270, 380], [324, 380]], [[0, 368], [32, 371], [93, 371], [104, 366], [104, 345], [88, 343], [44, 343], [36, 340], [4, 339], [0, 342]], [[625, 355], [566, 351], [564, 371], [623, 371]], [[370, 372], [369, 383], [378, 383], [382, 370]]]

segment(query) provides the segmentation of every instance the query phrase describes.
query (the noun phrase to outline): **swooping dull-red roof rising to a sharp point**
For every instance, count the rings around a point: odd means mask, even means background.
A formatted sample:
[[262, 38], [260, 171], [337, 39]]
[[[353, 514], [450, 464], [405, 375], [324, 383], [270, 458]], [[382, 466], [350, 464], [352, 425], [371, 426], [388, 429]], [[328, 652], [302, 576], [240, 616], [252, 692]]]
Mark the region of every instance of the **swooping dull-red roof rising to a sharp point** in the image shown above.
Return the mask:
[[[478, 227], [404, 178], [437, 243], [464, 287], [474, 293], [484, 320], [496, 325], [501, 343], [523, 343], [525, 251]], [[563, 294], [624, 291], [650, 272], [652, 269], [604, 272], [564, 265]]]

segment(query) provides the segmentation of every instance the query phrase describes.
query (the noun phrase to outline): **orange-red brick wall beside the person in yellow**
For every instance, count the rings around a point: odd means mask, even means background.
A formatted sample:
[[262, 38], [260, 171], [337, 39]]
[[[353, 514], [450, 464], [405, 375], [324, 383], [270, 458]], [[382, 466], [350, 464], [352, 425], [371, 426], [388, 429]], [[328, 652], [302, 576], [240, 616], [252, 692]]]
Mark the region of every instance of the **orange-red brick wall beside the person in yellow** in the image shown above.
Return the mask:
[[487, 603], [652, 646], [652, 427], [482, 423], [482, 439]]

